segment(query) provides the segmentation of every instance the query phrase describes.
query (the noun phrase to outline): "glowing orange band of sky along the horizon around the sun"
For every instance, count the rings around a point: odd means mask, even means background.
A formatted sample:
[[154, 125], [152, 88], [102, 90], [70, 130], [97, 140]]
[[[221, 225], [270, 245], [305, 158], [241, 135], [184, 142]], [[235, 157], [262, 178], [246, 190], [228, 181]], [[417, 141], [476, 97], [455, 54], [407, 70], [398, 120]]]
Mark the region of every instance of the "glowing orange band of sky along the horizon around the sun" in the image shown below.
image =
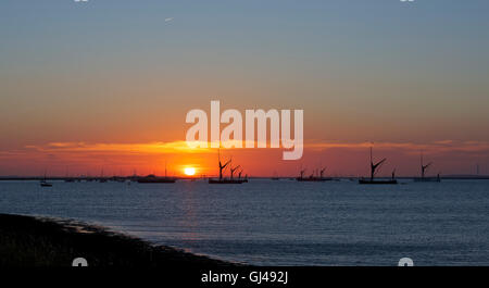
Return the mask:
[[[0, 175], [4, 176], [218, 176], [221, 161], [233, 160], [240, 165], [242, 175], [297, 176], [301, 167], [312, 174], [327, 166], [326, 175], [364, 176], [368, 173], [371, 142], [310, 141], [304, 143], [300, 161], [283, 161], [283, 149], [192, 149], [185, 141], [171, 142], [49, 142], [29, 145], [18, 149], [0, 151]], [[489, 159], [489, 141], [439, 140], [431, 142], [375, 142], [374, 158], [387, 158], [387, 166], [380, 172], [389, 176], [393, 168], [399, 175], [419, 173], [419, 151], [435, 162], [435, 174], [489, 173], [484, 165]], [[189, 175], [187, 172], [193, 174]], [[224, 172], [229, 177], [229, 170]]]

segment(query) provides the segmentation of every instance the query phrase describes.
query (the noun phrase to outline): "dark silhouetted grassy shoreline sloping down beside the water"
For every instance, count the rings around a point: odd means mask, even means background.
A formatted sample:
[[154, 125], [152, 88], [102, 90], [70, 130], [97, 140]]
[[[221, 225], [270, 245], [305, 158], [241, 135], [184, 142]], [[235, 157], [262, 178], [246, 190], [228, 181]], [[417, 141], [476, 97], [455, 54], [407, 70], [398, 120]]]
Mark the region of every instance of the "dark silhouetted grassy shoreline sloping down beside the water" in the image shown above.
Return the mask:
[[0, 214], [0, 266], [210, 267], [235, 264], [72, 221]]

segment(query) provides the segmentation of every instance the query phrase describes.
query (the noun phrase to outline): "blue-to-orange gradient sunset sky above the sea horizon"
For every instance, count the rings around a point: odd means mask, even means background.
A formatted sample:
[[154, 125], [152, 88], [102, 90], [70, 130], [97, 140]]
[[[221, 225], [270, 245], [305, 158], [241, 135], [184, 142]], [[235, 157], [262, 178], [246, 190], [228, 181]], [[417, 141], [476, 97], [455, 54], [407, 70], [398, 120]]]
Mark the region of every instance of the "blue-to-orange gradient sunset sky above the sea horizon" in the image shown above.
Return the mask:
[[[0, 2], [0, 175], [215, 173], [191, 109], [303, 109], [306, 150], [226, 151], [248, 173], [328, 165], [489, 174], [484, 0]], [[267, 161], [263, 161], [266, 159]], [[162, 164], [163, 162], [163, 164]]]

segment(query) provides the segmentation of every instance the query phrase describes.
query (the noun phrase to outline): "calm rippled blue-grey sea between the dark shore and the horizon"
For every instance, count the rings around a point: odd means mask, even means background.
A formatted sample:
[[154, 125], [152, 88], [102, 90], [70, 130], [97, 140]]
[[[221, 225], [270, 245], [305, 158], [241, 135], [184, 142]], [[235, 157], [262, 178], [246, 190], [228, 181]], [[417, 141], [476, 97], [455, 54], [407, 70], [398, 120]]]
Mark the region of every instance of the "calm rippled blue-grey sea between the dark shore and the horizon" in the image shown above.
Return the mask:
[[75, 218], [255, 265], [489, 265], [489, 180], [0, 181], [0, 213]]

